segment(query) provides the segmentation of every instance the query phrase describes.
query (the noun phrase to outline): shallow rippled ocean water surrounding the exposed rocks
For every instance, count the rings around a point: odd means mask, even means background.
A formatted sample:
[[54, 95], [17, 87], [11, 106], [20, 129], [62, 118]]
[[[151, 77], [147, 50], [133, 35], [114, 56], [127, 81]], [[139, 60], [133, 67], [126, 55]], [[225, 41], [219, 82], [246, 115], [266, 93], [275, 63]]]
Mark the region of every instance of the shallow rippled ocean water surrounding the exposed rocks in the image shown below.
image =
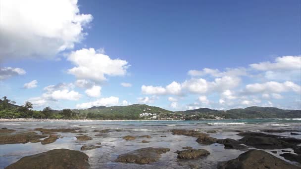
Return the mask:
[[[301, 119], [242, 119], [242, 120], [202, 120], [202, 121], [38, 121], [38, 122], [0, 122], [0, 128], [7, 127], [18, 131], [34, 130], [38, 127], [44, 128], [70, 128], [79, 127], [86, 131], [93, 140], [78, 141], [75, 136], [78, 133], [58, 133], [63, 136], [54, 143], [42, 145], [41, 143], [26, 144], [5, 144], [0, 145], [0, 169], [18, 161], [20, 158], [45, 152], [52, 149], [67, 148], [80, 150], [85, 144], [95, 144], [101, 142], [101, 148], [83, 151], [89, 156], [91, 169], [191, 169], [192, 166], [199, 166], [202, 169], [215, 169], [222, 161], [237, 158], [244, 151], [224, 149], [221, 144], [201, 145], [196, 142], [196, 137], [173, 135], [171, 129], [193, 129], [201, 132], [216, 130], [210, 134], [218, 139], [232, 138], [240, 139], [237, 135], [242, 131], [260, 131], [263, 129], [294, 129], [301, 130]], [[103, 136], [95, 136], [99, 132], [94, 129], [121, 129], [112, 131]], [[297, 132], [301, 134], [301, 132]], [[271, 133], [283, 136], [301, 138], [301, 135], [291, 135], [290, 132]], [[151, 135], [152, 138], [136, 138], [132, 141], [125, 141], [123, 136]], [[166, 135], [166, 137], [161, 137]], [[141, 143], [148, 140], [150, 143]], [[196, 160], [177, 159], [177, 150], [182, 147], [191, 146], [195, 149], [206, 149], [210, 155]], [[148, 165], [115, 163], [114, 160], [120, 154], [145, 147], [165, 147], [170, 148], [170, 152], [162, 154], [158, 162]], [[290, 149], [287, 149], [290, 150]], [[271, 150], [265, 150], [270, 152]], [[277, 150], [281, 152], [281, 150]], [[278, 156], [284, 160], [284, 158]], [[280, 153], [281, 154], [281, 153]], [[286, 160], [287, 161], [287, 160]], [[290, 161], [288, 161], [290, 162]], [[293, 162], [290, 162], [293, 163]], [[293, 163], [300, 165], [298, 163]]]

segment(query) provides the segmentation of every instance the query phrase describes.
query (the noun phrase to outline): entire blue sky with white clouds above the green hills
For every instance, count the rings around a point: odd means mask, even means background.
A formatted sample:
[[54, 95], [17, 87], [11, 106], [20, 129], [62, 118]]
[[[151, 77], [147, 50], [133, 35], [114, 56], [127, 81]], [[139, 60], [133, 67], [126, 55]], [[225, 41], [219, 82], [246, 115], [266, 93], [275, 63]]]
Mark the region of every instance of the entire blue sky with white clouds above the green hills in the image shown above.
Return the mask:
[[0, 96], [34, 109], [301, 109], [300, 0], [0, 0]]

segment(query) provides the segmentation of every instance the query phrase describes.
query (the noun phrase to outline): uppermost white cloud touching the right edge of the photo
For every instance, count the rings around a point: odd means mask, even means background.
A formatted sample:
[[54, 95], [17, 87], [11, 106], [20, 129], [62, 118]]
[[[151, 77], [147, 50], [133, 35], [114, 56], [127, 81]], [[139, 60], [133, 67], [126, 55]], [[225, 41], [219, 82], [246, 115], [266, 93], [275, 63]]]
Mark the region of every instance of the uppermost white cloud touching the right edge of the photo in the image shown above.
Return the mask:
[[283, 56], [277, 57], [274, 63], [260, 62], [258, 64], [251, 64], [251, 68], [260, 71], [271, 70], [300, 70], [301, 69], [301, 56]]

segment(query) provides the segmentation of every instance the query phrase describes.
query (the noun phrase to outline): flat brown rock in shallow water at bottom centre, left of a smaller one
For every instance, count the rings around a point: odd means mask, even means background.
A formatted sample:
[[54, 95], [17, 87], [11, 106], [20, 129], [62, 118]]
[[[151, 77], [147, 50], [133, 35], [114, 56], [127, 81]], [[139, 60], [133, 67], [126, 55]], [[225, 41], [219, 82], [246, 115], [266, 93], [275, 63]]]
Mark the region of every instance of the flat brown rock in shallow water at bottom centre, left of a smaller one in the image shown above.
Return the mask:
[[160, 159], [161, 154], [170, 151], [169, 148], [141, 148], [129, 153], [119, 155], [116, 162], [149, 164]]

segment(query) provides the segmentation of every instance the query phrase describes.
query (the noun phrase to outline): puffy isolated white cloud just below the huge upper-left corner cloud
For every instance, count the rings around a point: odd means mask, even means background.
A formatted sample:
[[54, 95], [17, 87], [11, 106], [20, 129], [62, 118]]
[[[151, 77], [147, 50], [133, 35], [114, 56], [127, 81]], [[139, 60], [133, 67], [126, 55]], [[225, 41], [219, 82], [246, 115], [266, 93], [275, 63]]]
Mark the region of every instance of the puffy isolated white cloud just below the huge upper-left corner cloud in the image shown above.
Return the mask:
[[68, 60], [76, 67], [68, 70], [77, 79], [89, 79], [96, 82], [106, 80], [105, 76], [124, 76], [129, 67], [128, 62], [111, 59], [108, 55], [97, 53], [94, 48], [83, 48], [71, 52]]

